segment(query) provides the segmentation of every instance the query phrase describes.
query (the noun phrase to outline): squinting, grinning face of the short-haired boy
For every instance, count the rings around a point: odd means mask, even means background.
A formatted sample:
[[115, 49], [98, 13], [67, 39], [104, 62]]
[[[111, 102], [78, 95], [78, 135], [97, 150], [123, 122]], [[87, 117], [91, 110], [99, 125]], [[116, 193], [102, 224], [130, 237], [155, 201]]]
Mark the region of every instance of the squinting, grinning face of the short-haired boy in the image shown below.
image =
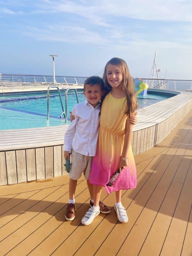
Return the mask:
[[93, 106], [93, 108], [97, 107], [98, 102], [101, 99], [101, 96], [104, 92], [102, 92], [100, 85], [85, 85], [84, 95], [89, 103]]

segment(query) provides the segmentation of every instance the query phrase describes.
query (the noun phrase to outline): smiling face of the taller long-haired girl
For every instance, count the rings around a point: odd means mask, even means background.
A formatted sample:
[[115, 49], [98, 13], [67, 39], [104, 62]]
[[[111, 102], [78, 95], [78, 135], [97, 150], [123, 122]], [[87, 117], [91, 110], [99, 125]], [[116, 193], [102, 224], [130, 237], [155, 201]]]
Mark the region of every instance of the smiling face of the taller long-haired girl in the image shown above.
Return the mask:
[[121, 86], [123, 81], [123, 74], [121, 68], [108, 64], [106, 67], [107, 81], [112, 88]]

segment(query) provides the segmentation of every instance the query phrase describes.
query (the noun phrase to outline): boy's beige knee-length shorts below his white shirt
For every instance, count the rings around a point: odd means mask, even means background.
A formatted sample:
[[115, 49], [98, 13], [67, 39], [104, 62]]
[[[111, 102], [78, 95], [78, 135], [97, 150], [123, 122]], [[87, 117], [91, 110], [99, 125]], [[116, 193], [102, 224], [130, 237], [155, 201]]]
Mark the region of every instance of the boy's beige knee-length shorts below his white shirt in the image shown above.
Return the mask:
[[69, 177], [72, 180], [78, 180], [84, 173], [85, 179], [89, 180], [91, 165], [92, 156], [84, 156], [72, 149]]

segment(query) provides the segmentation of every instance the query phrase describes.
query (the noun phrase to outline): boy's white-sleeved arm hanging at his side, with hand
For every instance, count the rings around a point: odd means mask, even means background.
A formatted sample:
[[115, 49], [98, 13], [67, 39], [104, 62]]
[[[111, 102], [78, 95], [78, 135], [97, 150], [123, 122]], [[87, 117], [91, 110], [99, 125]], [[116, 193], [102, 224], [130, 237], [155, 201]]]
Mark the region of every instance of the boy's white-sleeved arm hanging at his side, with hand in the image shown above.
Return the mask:
[[[74, 107], [72, 110], [73, 115], [76, 116], [76, 108]], [[72, 148], [72, 142], [73, 142], [73, 138], [76, 132], [76, 124], [78, 122], [78, 117], [76, 116], [75, 120], [69, 124], [67, 131], [65, 133], [64, 136], [64, 143], [63, 143], [63, 150], [69, 152], [71, 151]], [[66, 159], [66, 157], [68, 158], [68, 154], [64, 152], [64, 157]]]

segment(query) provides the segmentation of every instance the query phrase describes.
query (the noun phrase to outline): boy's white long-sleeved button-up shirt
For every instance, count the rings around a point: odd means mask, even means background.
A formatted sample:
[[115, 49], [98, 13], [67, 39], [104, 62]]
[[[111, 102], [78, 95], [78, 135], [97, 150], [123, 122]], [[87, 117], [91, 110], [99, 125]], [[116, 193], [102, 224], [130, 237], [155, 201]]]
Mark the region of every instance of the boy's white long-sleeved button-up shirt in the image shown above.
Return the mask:
[[76, 152], [85, 156], [95, 156], [100, 123], [100, 105], [96, 108], [85, 100], [72, 110], [75, 120], [68, 126], [64, 136], [63, 150]]

